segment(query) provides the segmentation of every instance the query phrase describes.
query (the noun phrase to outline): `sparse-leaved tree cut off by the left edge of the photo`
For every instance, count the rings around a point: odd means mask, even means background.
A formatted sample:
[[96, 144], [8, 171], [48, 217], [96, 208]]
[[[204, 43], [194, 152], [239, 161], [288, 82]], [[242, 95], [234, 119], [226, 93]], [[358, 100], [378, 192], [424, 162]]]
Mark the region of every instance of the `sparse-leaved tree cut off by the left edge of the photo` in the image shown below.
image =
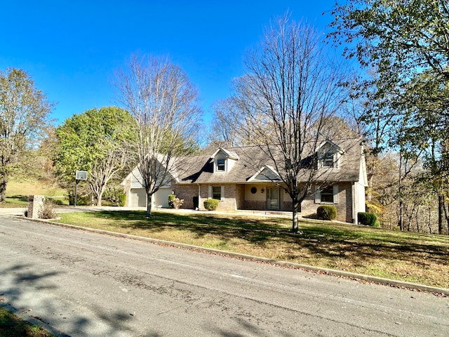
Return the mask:
[[25, 71], [0, 71], [0, 202], [12, 171], [26, 161], [27, 150], [48, 126], [52, 107]]

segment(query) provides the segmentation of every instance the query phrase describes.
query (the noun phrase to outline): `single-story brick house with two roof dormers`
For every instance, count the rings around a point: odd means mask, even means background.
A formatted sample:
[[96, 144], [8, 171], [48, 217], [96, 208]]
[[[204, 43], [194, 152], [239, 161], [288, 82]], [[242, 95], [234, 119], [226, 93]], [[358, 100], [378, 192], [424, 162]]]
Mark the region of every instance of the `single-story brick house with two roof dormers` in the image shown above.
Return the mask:
[[[305, 150], [304, 150], [305, 151]], [[356, 223], [365, 211], [366, 165], [360, 139], [323, 140], [304, 162], [316, 158], [314, 183], [302, 201], [301, 215], [311, 216], [321, 204], [337, 208], [337, 220]], [[272, 161], [257, 146], [222, 148], [208, 155], [178, 157], [170, 182], [154, 194], [154, 206], [168, 207], [168, 195], [184, 199], [182, 208], [203, 209], [204, 199], [220, 200], [219, 211], [291, 211], [292, 201], [282, 188], [276, 171], [280, 161]], [[307, 166], [307, 164], [306, 164]], [[308, 176], [304, 169], [304, 180]], [[123, 181], [127, 206], [145, 206], [146, 194], [138, 170]]]

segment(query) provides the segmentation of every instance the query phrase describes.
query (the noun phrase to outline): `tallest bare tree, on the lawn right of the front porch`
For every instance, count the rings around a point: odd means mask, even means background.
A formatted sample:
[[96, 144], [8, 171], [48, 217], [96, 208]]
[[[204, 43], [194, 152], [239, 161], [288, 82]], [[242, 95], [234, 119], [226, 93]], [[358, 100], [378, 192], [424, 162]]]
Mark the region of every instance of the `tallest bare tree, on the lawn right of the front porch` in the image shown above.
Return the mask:
[[316, 149], [341, 104], [347, 72], [329, 54], [313, 27], [284, 15], [249, 53], [247, 74], [236, 86], [235, 99], [251, 126], [247, 136], [272, 161], [293, 201], [293, 232], [302, 200], [323, 179]]

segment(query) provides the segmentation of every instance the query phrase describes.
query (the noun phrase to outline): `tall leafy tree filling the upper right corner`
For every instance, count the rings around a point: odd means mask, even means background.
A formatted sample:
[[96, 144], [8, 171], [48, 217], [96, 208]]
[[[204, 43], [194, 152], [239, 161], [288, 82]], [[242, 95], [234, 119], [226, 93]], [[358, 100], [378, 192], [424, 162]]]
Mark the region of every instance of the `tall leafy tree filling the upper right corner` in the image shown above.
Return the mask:
[[[380, 131], [375, 155], [387, 140], [404, 159], [421, 157], [431, 180], [441, 180], [444, 172], [436, 167], [444, 167], [449, 127], [448, 2], [349, 0], [337, 2], [333, 14], [330, 37], [347, 42], [344, 55], [376, 72], [358, 84], [358, 95], [369, 102], [363, 121]], [[445, 198], [439, 191], [442, 213]]]

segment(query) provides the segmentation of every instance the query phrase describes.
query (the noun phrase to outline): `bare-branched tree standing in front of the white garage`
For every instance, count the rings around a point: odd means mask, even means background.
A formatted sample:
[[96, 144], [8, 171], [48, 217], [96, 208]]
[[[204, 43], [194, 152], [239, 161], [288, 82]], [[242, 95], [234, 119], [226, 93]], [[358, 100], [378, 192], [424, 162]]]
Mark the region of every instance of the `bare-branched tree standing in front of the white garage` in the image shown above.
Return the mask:
[[130, 147], [147, 192], [147, 217], [152, 196], [173, 178], [175, 160], [194, 143], [201, 107], [198, 91], [187, 74], [161, 58], [131, 58], [116, 72], [115, 85], [123, 107], [135, 117], [137, 127]]

